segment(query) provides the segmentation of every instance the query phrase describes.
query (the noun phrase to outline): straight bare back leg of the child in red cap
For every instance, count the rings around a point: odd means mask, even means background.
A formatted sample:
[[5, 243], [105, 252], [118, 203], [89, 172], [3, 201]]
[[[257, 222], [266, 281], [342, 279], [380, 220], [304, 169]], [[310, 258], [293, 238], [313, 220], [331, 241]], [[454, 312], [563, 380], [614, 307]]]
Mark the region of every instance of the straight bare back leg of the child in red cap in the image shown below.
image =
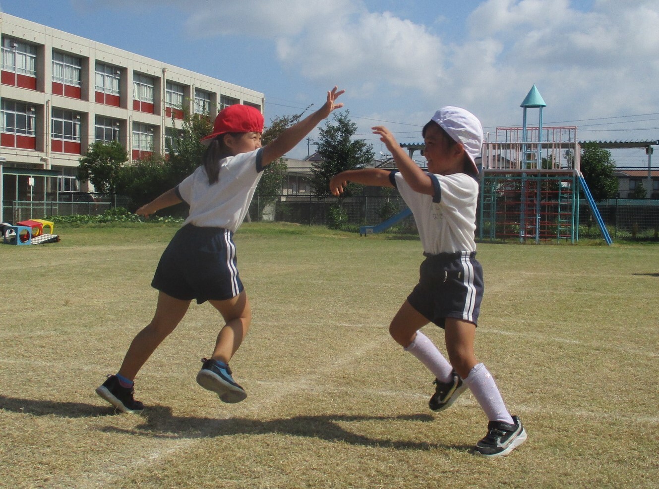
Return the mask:
[[181, 301], [167, 296], [164, 292], [159, 292], [154, 319], [132, 340], [121, 364], [121, 369], [119, 369], [119, 374], [134, 380], [142, 365], [156, 351], [158, 345], [181, 322], [189, 306], [190, 301]]

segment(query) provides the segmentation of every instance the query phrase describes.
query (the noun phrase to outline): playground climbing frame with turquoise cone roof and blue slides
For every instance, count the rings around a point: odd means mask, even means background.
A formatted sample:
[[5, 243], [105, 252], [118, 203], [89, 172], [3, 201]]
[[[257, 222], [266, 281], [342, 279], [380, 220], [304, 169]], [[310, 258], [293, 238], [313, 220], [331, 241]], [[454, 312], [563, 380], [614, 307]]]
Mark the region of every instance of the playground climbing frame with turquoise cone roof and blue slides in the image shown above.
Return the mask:
[[[521, 127], [496, 128], [482, 147], [478, 238], [520, 242], [579, 240], [579, 201], [587, 199], [602, 237], [611, 237], [580, 171], [581, 146], [575, 126], [542, 126], [546, 103], [536, 86], [521, 103]], [[527, 126], [527, 109], [539, 109], [538, 126]], [[422, 144], [403, 145], [412, 157]], [[377, 226], [362, 226], [360, 236], [382, 232], [411, 211]]]

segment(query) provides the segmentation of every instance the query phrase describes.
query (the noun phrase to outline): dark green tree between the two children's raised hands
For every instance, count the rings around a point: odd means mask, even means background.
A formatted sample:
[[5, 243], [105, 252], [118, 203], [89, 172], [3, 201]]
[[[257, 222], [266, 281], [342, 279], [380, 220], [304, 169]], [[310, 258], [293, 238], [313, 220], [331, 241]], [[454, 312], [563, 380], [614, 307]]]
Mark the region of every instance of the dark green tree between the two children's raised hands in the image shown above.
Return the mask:
[[[375, 153], [373, 145], [364, 140], [353, 140], [357, 132], [357, 124], [351, 122], [349, 111], [333, 114], [335, 125], [326, 121], [325, 127], [320, 128], [320, 142], [318, 153], [323, 161], [312, 165], [312, 188], [317, 197], [325, 197], [329, 193], [329, 179], [343, 170], [363, 168], [373, 161]], [[345, 189], [344, 195], [352, 195], [357, 188], [356, 184], [350, 183]]]

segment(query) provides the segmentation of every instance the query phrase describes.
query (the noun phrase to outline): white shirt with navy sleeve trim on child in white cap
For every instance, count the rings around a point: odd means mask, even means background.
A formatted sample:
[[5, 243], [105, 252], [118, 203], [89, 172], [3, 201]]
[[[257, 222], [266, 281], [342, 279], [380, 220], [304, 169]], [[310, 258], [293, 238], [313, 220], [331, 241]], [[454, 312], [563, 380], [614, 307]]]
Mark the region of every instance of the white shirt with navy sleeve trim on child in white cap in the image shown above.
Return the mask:
[[466, 173], [426, 174], [435, 188], [434, 196], [412, 190], [400, 172], [389, 176], [414, 215], [423, 251], [433, 255], [476, 251], [478, 182]]

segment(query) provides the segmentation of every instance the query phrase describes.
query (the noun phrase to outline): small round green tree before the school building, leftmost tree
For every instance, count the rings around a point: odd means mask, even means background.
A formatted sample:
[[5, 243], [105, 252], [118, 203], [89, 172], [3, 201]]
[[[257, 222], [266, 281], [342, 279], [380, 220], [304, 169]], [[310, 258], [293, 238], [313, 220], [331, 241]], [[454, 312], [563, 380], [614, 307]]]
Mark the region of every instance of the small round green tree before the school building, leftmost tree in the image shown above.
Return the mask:
[[128, 153], [118, 141], [92, 143], [84, 157], [78, 159], [78, 180], [90, 181], [96, 192], [117, 193], [117, 178]]

